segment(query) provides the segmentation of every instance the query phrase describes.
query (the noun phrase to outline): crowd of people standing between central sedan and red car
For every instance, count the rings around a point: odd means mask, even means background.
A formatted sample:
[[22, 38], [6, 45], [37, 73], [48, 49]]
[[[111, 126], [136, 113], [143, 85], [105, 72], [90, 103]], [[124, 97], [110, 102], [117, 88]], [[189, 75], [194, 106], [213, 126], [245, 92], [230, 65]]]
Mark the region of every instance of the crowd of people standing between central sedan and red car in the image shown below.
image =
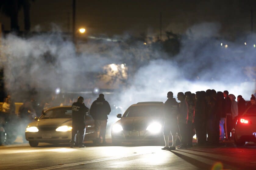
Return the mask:
[[[224, 119], [226, 128], [226, 140], [231, 140], [231, 132], [235, 130], [236, 121], [244, 111], [252, 104], [256, 104], [255, 96], [246, 103], [239, 95], [236, 97], [224, 92], [215, 90], [197, 91], [195, 94], [190, 91], [177, 94], [178, 103], [173, 98], [173, 93], [168, 92], [168, 100], [165, 102], [165, 124], [163, 134], [165, 147], [163, 150], [176, 149], [176, 136], [181, 141], [178, 149], [192, 147], [193, 135], [197, 136], [197, 145], [216, 145], [220, 140], [220, 120]], [[194, 132], [195, 130], [195, 132]], [[170, 133], [171, 132], [171, 133]], [[172, 146], [169, 147], [169, 134], [172, 136]]]

